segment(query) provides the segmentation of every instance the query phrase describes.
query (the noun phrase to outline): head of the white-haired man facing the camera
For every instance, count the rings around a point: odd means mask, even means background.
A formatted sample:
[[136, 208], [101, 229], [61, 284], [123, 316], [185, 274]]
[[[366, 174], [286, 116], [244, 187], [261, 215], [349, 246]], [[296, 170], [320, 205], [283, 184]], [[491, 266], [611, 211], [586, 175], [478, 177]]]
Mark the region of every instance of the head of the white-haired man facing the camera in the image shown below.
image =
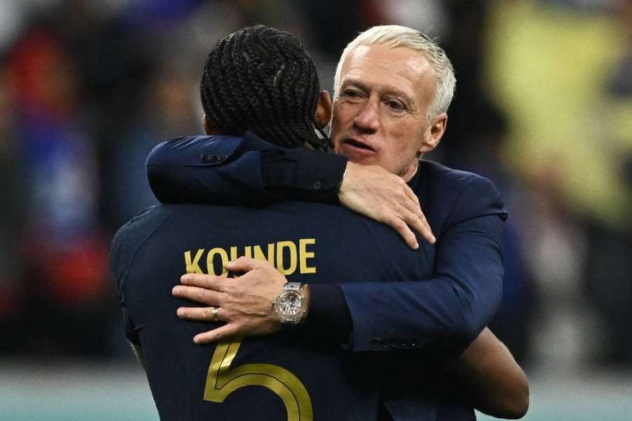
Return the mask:
[[[445, 131], [455, 83], [445, 52], [420, 32], [395, 25], [363, 32], [343, 51], [334, 76], [336, 152], [409, 181]], [[376, 143], [379, 130], [388, 147]]]

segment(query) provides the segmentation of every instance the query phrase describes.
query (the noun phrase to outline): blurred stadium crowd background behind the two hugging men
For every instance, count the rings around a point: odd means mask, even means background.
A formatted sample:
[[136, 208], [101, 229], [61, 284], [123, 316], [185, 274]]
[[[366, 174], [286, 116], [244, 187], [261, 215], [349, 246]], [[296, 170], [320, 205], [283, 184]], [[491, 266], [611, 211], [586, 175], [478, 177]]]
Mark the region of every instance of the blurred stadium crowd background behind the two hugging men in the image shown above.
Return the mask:
[[255, 23], [302, 39], [324, 88], [367, 27], [440, 41], [457, 93], [429, 158], [511, 212], [492, 330], [525, 419], [631, 419], [632, 1], [1, 0], [0, 420], [157, 420], [108, 249], [156, 203], [152, 147], [202, 133], [206, 53]]

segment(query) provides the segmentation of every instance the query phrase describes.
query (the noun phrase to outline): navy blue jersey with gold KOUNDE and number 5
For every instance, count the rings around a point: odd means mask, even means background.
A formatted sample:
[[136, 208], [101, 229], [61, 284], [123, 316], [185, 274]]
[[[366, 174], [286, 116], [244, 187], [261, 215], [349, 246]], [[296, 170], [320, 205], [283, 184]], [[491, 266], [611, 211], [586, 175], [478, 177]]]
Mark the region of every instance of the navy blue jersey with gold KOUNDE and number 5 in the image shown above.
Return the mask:
[[178, 319], [176, 309], [192, 303], [171, 288], [185, 272], [221, 274], [223, 263], [241, 255], [306, 283], [430, 278], [435, 258], [432, 246], [410, 250], [392, 229], [334, 205], [145, 210], [119, 229], [111, 265], [126, 334], [143, 349], [161, 419], [375, 420], [384, 373], [300, 328], [192, 342], [213, 324]]

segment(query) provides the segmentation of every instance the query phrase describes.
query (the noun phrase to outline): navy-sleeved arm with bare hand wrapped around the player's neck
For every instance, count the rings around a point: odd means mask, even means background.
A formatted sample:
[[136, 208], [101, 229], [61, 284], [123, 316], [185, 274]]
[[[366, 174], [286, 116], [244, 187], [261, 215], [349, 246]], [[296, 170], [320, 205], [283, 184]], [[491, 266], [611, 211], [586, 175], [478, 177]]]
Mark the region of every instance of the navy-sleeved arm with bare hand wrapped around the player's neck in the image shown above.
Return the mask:
[[147, 178], [162, 203], [339, 200], [395, 229], [412, 248], [412, 230], [435, 241], [419, 200], [396, 175], [341, 155], [277, 147], [252, 133], [166, 140], [147, 158]]

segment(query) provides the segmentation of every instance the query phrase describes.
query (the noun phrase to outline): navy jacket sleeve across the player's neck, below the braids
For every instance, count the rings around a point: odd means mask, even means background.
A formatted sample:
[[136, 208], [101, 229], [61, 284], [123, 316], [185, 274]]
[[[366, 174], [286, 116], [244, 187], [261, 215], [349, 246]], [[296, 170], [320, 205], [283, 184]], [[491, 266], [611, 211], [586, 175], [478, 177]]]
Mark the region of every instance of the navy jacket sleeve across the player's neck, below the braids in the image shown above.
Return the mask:
[[147, 158], [147, 178], [162, 203], [336, 201], [347, 159], [284, 149], [252, 133], [243, 138], [166, 140]]

